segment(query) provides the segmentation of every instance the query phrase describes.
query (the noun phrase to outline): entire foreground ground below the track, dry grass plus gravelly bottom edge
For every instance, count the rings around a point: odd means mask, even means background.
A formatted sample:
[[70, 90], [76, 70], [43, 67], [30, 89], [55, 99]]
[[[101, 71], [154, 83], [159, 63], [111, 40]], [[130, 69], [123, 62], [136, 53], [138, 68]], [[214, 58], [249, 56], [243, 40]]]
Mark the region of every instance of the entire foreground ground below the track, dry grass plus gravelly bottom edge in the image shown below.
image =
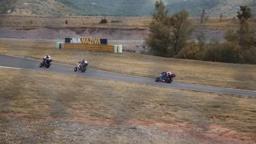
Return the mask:
[[0, 68], [1, 143], [254, 143], [256, 99]]

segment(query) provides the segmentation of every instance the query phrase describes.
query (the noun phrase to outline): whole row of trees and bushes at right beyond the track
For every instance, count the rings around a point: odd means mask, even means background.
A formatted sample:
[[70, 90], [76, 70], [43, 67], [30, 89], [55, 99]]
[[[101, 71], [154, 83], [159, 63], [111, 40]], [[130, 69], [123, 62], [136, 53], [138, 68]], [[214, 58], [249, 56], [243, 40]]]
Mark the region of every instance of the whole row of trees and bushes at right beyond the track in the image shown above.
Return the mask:
[[[222, 43], [215, 38], [207, 43], [203, 32], [197, 35], [197, 41], [188, 41], [194, 31], [188, 20], [188, 11], [181, 10], [168, 15], [161, 0], [155, 2], [152, 17], [150, 33], [145, 39], [149, 51], [143, 53], [202, 61], [256, 64], [256, 37], [254, 29], [248, 24], [248, 19], [253, 14], [247, 6], [240, 6], [237, 13], [239, 29], [226, 29], [226, 41]], [[201, 22], [206, 20], [205, 17], [205, 11], [202, 11]], [[220, 21], [222, 17], [223, 14], [220, 14]]]

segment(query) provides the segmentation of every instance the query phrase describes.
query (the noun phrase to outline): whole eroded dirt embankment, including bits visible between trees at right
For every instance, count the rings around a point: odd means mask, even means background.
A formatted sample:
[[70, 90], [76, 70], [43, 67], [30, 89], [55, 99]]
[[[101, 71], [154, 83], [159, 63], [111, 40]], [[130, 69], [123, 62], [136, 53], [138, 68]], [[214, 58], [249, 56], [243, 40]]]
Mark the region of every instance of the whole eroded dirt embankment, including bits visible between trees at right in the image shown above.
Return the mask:
[[[191, 40], [196, 40], [200, 30], [193, 33]], [[143, 48], [144, 39], [149, 28], [95, 28], [95, 27], [0, 27], [0, 37], [21, 39], [53, 39], [65, 38], [105, 38], [109, 44], [124, 45], [123, 49], [139, 52]], [[206, 39], [217, 38], [223, 41], [222, 31], [205, 31]]]

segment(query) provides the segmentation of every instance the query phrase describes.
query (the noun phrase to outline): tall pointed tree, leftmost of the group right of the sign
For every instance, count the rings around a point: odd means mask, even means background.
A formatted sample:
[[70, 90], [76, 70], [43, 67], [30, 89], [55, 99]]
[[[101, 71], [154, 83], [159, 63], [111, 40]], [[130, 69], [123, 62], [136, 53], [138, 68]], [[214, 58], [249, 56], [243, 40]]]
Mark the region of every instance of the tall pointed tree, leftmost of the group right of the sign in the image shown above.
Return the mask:
[[167, 56], [167, 50], [171, 41], [171, 28], [168, 21], [168, 10], [165, 10], [164, 3], [155, 2], [155, 12], [152, 14], [153, 21], [149, 25], [149, 35], [145, 39], [145, 44], [150, 48], [155, 56]]

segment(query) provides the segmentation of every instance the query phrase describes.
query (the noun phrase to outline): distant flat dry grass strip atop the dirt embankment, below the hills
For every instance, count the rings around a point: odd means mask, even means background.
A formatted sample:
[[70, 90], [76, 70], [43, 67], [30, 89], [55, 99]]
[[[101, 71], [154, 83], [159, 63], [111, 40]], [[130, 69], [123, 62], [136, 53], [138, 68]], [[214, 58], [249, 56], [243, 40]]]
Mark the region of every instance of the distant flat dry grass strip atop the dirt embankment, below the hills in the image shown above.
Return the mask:
[[[100, 24], [101, 19], [106, 18], [108, 23]], [[59, 26], [59, 27], [148, 27], [151, 17], [113, 17], [113, 16], [29, 16], [29, 15], [0, 15], [0, 26]], [[68, 21], [68, 25], [65, 21]], [[224, 31], [226, 28], [239, 26], [237, 17], [210, 17], [207, 22], [202, 23], [201, 19], [190, 17], [191, 25], [196, 29], [207, 29]], [[111, 22], [115, 21], [115, 22]], [[256, 27], [256, 18], [249, 20], [251, 27]]]

